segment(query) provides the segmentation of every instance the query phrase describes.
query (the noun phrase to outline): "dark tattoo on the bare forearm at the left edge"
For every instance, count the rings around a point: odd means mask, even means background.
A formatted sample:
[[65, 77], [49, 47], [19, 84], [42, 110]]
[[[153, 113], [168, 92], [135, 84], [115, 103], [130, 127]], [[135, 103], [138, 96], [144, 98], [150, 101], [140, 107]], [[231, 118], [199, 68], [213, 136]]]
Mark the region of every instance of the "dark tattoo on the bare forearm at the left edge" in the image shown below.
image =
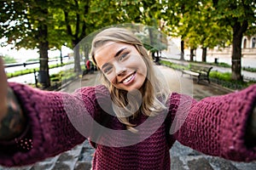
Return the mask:
[[26, 125], [26, 118], [11, 88], [8, 89], [7, 101], [7, 113], [0, 119], [0, 140], [15, 139]]

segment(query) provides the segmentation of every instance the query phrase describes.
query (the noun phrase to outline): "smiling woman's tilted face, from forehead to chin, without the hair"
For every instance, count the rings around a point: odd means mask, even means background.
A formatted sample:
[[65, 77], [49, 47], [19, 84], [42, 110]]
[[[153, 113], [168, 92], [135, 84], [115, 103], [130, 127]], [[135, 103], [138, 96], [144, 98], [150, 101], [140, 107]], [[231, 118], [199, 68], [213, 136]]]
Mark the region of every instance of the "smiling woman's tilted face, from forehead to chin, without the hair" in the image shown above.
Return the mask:
[[147, 66], [137, 48], [121, 42], [107, 42], [96, 49], [95, 59], [114, 87], [130, 91], [145, 82]]

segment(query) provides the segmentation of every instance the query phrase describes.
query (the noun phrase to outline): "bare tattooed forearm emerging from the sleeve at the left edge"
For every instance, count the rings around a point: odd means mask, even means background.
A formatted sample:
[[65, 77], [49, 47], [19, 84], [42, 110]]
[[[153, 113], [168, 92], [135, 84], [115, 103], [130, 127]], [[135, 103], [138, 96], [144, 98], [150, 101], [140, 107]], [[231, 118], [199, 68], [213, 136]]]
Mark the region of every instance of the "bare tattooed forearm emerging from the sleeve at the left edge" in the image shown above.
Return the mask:
[[25, 127], [26, 118], [13, 90], [9, 88], [3, 59], [0, 59], [0, 141], [15, 139]]

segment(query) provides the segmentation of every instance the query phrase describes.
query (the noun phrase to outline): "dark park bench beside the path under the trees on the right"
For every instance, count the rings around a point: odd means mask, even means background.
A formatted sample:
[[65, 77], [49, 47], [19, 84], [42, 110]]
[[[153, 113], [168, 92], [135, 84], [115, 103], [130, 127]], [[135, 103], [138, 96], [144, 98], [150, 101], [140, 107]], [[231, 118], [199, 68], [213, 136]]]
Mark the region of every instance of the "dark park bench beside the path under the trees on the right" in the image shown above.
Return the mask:
[[207, 80], [210, 83], [209, 74], [211, 70], [212, 66], [189, 65], [189, 70], [182, 71], [182, 77], [183, 74], [188, 74], [190, 77], [197, 77], [197, 82], [200, 82], [201, 80]]

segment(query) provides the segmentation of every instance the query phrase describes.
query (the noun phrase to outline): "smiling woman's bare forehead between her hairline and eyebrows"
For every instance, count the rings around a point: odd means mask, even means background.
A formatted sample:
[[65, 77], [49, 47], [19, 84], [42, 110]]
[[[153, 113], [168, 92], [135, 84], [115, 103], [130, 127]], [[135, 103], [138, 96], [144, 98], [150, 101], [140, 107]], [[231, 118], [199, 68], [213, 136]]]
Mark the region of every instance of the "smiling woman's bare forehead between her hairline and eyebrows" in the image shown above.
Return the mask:
[[102, 47], [96, 48], [95, 59], [99, 68], [102, 68], [102, 65], [111, 61], [115, 54], [123, 48], [134, 48], [134, 46], [122, 42], [107, 42]]

